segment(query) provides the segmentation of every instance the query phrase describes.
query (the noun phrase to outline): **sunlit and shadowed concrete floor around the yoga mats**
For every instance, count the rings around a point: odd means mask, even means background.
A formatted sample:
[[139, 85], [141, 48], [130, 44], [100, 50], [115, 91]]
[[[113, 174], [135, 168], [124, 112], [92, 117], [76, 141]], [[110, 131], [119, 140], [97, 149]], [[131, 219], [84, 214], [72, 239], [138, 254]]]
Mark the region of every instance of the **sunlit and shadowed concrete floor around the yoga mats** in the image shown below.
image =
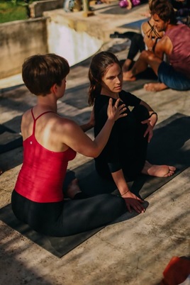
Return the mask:
[[[145, 11], [145, 7], [140, 11]], [[94, 17], [99, 21], [99, 14]], [[124, 16], [121, 17], [124, 22]], [[133, 12], [125, 18], [128, 18], [128, 22], [136, 19]], [[119, 22], [121, 24], [121, 18]], [[113, 25], [113, 21], [111, 23]], [[118, 30], [117, 23], [114, 30]], [[113, 47], [121, 60], [126, 56], [123, 44], [125, 40], [116, 39], [108, 43], [108, 47]], [[80, 86], [88, 82], [88, 64], [83, 62], [72, 67], [67, 89], [72, 88], [77, 94]], [[0, 81], [0, 123], [16, 131], [19, 131], [23, 112], [35, 104], [35, 96], [20, 84], [21, 74]], [[139, 89], [138, 82], [136, 86], [133, 94], [147, 101], [157, 111], [158, 123], [174, 113], [190, 116], [190, 91], [167, 89], [154, 93]], [[82, 100], [86, 101], [86, 94]], [[76, 108], [64, 102], [59, 104], [60, 113], [73, 117], [79, 123], [86, 120], [86, 112], [90, 110], [87, 105], [85, 108]], [[87, 160], [77, 155], [69, 167], [73, 169]], [[4, 169], [0, 177], [0, 207], [10, 203], [21, 162], [21, 147], [0, 155], [0, 167]], [[62, 258], [51, 255], [0, 221], [0, 284], [160, 284], [162, 272], [173, 256], [190, 255], [189, 177], [190, 169], [187, 168], [146, 199], [149, 206], [144, 214], [107, 226]]]

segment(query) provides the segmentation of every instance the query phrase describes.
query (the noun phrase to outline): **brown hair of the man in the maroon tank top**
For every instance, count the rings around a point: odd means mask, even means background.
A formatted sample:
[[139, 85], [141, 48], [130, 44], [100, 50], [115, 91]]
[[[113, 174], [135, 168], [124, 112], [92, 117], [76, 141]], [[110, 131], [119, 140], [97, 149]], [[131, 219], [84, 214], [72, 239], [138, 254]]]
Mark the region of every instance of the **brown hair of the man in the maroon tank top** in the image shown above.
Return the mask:
[[175, 16], [174, 7], [168, 0], [152, 0], [150, 4], [151, 15], [157, 14], [164, 21], [176, 25], [177, 18]]

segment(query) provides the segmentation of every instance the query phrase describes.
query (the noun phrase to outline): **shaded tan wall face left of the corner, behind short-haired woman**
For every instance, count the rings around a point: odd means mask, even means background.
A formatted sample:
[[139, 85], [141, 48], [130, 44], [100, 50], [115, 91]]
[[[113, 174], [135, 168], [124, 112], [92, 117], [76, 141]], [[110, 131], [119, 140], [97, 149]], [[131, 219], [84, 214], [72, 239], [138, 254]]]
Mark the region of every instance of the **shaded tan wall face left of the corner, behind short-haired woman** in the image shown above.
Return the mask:
[[0, 79], [21, 73], [26, 57], [48, 51], [46, 22], [38, 18], [0, 25]]

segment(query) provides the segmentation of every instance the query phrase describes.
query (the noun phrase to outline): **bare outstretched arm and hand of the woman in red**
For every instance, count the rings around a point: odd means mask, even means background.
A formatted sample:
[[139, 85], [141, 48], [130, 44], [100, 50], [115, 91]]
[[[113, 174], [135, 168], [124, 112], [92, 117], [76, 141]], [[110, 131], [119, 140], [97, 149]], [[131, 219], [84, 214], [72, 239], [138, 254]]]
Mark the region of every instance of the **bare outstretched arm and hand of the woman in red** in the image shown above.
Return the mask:
[[126, 114], [123, 113], [123, 111], [126, 110], [125, 105], [123, 104], [118, 106], [119, 100], [117, 100], [116, 104], [112, 106], [112, 102], [113, 100], [110, 99], [108, 104], [108, 120], [94, 141], [83, 132], [82, 128], [80, 128], [77, 123], [67, 121], [62, 133], [62, 143], [65, 143], [65, 145], [68, 145], [82, 155], [87, 157], [97, 157], [108, 142], [108, 138], [111, 134], [111, 129], [113, 128], [115, 121], [118, 118], [126, 116]]

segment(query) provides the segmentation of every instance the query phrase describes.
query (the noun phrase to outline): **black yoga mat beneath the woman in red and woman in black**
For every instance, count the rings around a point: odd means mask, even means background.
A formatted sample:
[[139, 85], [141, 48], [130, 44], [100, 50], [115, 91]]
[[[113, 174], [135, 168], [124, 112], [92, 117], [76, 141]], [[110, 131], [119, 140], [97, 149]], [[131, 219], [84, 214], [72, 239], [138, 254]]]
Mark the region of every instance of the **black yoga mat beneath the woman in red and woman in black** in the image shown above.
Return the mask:
[[[161, 186], [168, 181], [174, 179], [181, 173], [190, 163], [190, 117], [177, 113], [166, 121], [163, 121], [155, 128], [154, 137], [149, 145], [148, 160], [157, 164], [171, 164], [177, 167], [177, 172], [172, 177], [157, 178], [140, 175], [138, 179], [130, 182], [130, 189], [143, 199], [150, 194], [160, 189]], [[94, 169], [94, 161], [74, 169], [76, 176], [79, 177], [79, 183], [84, 192], [95, 195], [101, 193], [111, 193], [116, 190], [113, 183], [101, 180]], [[145, 203], [147, 207], [147, 203]], [[126, 212], [121, 218], [113, 223], [121, 222], [133, 218], [137, 214], [135, 212]], [[90, 238], [102, 228], [91, 230], [86, 233], [72, 235], [65, 238], [52, 238], [45, 235], [40, 235], [34, 230], [31, 230], [28, 225], [19, 222], [11, 211], [11, 205], [0, 209], [0, 220], [9, 225], [14, 230], [17, 230], [22, 235], [43, 247], [45, 250], [57, 257], [66, 255], [67, 252], [73, 250], [79, 244]], [[104, 227], [103, 227], [104, 228]]]

